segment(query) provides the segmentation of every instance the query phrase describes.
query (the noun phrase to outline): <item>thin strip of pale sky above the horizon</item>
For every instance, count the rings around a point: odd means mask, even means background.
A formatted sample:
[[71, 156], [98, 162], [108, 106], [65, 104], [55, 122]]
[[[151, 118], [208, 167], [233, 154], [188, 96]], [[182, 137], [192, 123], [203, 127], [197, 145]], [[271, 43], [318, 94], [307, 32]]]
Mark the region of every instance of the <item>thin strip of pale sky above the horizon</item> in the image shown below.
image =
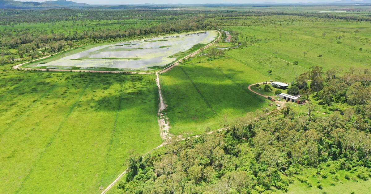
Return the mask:
[[[18, 0], [18, 1], [37, 1], [43, 2], [46, 0]], [[142, 3], [182, 3], [182, 4], [200, 4], [200, 3], [264, 3], [264, 2], [275, 2], [275, 3], [308, 3], [308, 2], [331, 2], [337, 0], [72, 0], [77, 3], [88, 3], [88, 4], [142, 4]]]

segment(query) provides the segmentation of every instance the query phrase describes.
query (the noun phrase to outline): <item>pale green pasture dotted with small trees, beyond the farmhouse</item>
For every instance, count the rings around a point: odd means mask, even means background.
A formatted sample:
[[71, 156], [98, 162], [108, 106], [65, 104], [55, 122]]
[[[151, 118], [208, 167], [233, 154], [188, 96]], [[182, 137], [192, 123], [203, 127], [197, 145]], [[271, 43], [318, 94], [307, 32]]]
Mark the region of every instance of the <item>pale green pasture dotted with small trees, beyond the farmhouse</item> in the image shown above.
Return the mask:
[[[349, 69], [350, 67], [370, 68], [371, 28], [369, 23], [357, 22], [294, 22], [280, 25], [252, 25], [226, 27], [241, 33], [240, 41], [250, 42], [251, 50], [257, 55], [277, 57], [298, 65], [286, 63], [292, 72], [312, 66], [321, 66], [324, 70], [331, 68]], [[354, 33], [358, 30], [357, 35]], [[323, 33], [326, 33], [323, 38]], [[335, 36], [341, 36], [336, 41]], [[333, 40], [330, 40], [332, 38]], [[259, 39], [260, 41], [256, 41]], [[252, 41], [253, 40], [253, 41]], [[360, 50], [360, 48], [362, 48]], [[304, 57], [303, 52], [307, 52]], [[250, 53], [245, 53], [250, 55]], [[270, 56], [272, 55], [272, 56]], [[322, 55], [321, 58], [318, 56]], [[276, 66], [280, 68], [280, 66]], [[272, 69], [273, 74], [276, 69]]]

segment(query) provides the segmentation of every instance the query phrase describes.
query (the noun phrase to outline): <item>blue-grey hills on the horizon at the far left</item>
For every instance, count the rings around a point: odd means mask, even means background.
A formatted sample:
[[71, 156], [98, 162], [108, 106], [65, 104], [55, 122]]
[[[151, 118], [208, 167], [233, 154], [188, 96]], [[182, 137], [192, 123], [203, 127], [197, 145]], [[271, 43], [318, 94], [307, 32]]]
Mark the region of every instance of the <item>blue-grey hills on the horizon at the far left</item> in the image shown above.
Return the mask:
[[86, 3], [76, 3], [73, 1], [57, 0], [57, 1], [45, 1], [42, 3], [34, 1], [13, 1], [13, 0], [0, 0], [0, 8], [63, 8], [63, 7], [78, 7], [78, 6], [89, 6]]

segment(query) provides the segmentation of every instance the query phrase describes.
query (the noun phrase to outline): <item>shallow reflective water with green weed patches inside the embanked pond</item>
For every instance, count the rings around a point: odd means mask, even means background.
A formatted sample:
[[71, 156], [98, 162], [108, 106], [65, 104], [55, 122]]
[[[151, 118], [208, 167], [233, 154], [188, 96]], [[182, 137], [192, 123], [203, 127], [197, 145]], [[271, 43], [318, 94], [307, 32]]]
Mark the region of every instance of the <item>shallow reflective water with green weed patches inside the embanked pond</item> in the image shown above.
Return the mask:
[[207, 44], [217, 37], [216, 31], [198, 31], [93, 47], [37, 66], [106, 67], [148, 69], [175, 61], [172, 55], [184, 52], [196, 44]]

